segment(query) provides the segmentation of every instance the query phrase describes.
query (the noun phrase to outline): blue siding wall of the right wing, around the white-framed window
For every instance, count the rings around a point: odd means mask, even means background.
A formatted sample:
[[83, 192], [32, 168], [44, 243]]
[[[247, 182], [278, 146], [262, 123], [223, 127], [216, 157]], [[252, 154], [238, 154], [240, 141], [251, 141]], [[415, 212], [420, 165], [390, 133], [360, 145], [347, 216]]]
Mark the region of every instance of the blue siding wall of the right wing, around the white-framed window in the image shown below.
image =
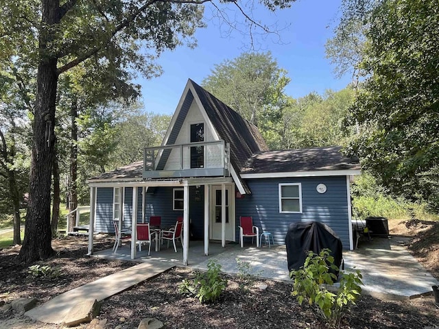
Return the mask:
[[[299, 221], [320, 221], [331, 227], [340, 237], [344, 249], [349, 249], [348, 199], [346, 176], [317, 178], [283, 178], [246, 180], [251, 195], [236, 200], [236, 222], [239, 216], [252, 216], [254, 225], [262, 231], [271, 232], [274, 243], [285, 243], [290, 223]], [[279, 183], [301, 183], [302, 213], [279, 212]], [[320, 194], [316, 186], [327, 185], [327, 192]], [[239, 241], [239, 228], [236, 228]]]

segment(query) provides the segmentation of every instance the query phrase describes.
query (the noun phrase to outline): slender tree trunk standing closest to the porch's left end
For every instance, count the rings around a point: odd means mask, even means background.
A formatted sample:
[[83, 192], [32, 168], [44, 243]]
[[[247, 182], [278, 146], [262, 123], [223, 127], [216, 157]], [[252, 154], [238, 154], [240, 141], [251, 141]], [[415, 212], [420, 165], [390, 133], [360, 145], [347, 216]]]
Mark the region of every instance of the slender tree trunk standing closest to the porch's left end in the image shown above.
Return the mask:
[[[78, 125], [76, 119], [78, 118], [78, 99], [72, 99], [71, 109], [71, 147], [70, 147], [70, 186], [69, 186], [69, 212], [78, 208]], [[78, 213], [70, 215], [68, 231], [73, 231], [76, 216]]]

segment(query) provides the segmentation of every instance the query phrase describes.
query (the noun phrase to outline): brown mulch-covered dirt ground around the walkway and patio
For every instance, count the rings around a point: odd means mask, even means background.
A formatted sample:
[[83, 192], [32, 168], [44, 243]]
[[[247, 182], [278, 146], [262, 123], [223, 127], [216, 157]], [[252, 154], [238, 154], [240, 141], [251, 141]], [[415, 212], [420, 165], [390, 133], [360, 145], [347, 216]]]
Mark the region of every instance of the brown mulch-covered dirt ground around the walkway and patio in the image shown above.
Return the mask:
[[[389, 221], [389, 226], [393, 235], [412, 236], [407, 248], [439, 279], [439, 222], [414, 219]], [[113, 240], [100, 236], [95, 241], [97, 249], [106, 249]], [[133, 265], [85, 256], [87, 241], [81, 237], [56, 240], [53, 247], [56, 256], [40, 265], [56, 267], [59, 274], [55, 278], [32, 278], [29, 265], [16, 260], [19, 247], [0, 251], [0, 306], [18, 297], [33, 297], [43, 303]], [[239, 278], [226, 276], [228, 285], [219, 302], [200, 304], [178, 293], [178, 284], [193, 274], [189, 269], [172, 269], [112, 296], [103, 302], [99, 319], [106, 320], [105, 328], [137, 328], [146, 317], [163, 321], [165, 328], [329, 328], [309, 306], [298, 305], [290, 284], [262, 280], [244, 289]], [[261, 290], [257, 284], [268, 287]], [[62, 327], [36, 323], [13, 310], [0, 310], [0, 328]], [[337, 328], [439, 328], [439, 306], [431, 295], [405, 301], [361, 295]]]

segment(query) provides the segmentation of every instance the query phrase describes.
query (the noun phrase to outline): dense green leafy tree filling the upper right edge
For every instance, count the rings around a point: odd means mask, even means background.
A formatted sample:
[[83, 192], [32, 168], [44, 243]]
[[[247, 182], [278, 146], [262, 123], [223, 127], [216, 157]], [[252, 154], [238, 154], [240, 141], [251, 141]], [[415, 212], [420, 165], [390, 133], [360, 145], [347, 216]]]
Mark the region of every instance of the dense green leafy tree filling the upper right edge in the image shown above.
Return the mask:
[[388, 0], [372, 10], [351, 107], [351, 153], [397, 195], [438, 207], [439, 10], [437, 1]]

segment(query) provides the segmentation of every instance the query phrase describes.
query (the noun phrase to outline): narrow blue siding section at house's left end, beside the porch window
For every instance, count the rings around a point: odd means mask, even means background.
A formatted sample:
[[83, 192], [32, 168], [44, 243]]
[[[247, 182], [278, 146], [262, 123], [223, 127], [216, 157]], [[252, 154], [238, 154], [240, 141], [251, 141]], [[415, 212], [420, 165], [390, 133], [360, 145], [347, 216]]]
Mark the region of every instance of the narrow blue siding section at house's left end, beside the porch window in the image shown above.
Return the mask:
[[114, 233], [112, 226], [112, 187], [96, 189], [96, 232]]

